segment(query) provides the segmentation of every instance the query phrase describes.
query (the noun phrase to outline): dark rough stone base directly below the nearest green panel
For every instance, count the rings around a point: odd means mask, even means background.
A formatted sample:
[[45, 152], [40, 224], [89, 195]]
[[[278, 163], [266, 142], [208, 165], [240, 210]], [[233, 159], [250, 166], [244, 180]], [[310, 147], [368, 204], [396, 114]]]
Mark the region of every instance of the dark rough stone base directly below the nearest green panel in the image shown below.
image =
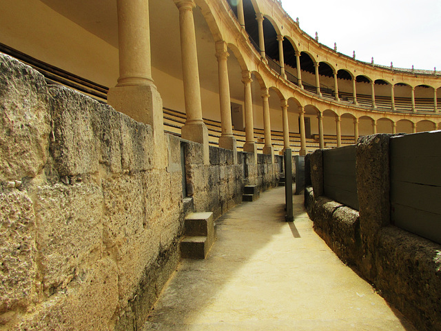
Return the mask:
[[389, 226], [380, 230], [376, 286], [418, 330], [441, 330], [441, 245]]

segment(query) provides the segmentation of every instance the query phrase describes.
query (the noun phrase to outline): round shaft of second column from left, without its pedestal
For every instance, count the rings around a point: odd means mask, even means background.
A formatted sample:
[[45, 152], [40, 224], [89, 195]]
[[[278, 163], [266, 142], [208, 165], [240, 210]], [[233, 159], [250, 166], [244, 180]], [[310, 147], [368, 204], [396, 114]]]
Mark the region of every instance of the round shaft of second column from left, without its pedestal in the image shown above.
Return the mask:
[[193, 0], [174, 0], [179, 8], [181, 30], [181, 54], [183, 67], [185, 124], [203, 123], [201, 106], [201, 86], [199, 83], [198, 54], [194, 32]]

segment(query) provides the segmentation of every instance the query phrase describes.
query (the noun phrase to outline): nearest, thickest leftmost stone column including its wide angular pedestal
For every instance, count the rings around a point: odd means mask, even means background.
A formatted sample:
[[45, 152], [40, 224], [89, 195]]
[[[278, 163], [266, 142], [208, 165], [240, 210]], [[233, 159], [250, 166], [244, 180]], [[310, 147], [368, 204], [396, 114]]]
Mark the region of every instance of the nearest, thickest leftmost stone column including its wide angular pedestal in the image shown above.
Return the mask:
[[152, 126], [158, 146], [156, 165], [163, 156], [163, 101], [152, 79], [149, 2], [118, 0], [119, 79], [107, 93], [107, 103], [136, 121]]

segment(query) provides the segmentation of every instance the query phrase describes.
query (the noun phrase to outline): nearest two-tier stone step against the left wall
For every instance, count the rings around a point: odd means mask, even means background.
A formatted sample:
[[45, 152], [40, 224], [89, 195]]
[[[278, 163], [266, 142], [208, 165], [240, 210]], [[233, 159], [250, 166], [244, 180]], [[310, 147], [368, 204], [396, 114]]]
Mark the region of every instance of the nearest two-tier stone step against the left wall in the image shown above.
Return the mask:
[[205, 259], [216, 236], [212, 212], [192, 212], [185, 217], [181, 257]]

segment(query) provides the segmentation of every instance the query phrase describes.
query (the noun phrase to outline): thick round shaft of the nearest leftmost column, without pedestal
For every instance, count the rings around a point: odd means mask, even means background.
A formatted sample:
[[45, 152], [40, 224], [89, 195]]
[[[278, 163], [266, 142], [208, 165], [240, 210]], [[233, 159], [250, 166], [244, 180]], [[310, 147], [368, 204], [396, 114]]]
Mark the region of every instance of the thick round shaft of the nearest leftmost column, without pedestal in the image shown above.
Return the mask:
[[148, 0], [118, 0], [119, 79], [116, 86], [152, 85]]

